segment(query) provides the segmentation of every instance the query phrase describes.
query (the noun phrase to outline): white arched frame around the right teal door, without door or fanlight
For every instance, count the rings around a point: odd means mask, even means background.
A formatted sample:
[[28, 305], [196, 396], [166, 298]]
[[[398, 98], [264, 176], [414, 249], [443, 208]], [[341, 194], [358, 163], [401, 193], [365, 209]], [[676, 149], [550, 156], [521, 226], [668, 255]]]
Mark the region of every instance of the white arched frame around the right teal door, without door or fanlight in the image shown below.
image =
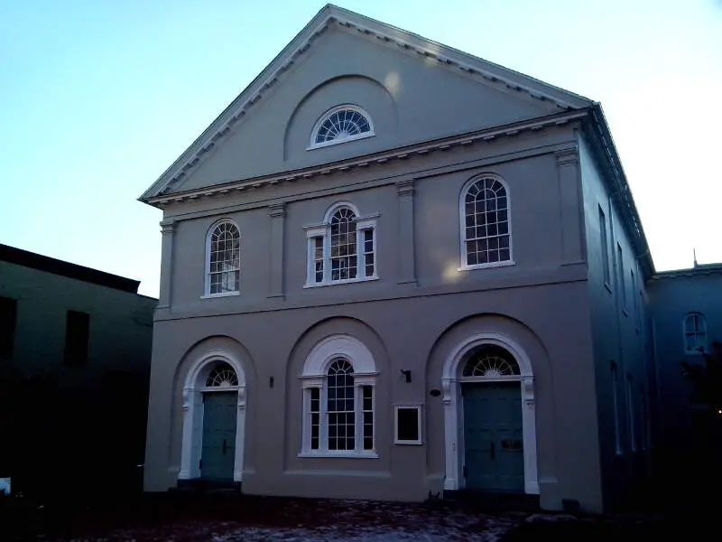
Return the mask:
[[[470, 350], [483, 344], [494, 344], [508, 350], [519, 366], [519, 375], [508, 377], [462, 377], [459, 367]], [[456, 491], [465, 487], [464, 401], [461, 384], [472, 382], [519, 382], [522, 396], [522, 435], [524, 455], [524, 492], [539, 494], [537, 469], [536, 405], [532, 362], [523, 348], [500, 333], [478, 333], [467, 337], [449, 353], [441, 375], [444, 405], [444, 490]]]

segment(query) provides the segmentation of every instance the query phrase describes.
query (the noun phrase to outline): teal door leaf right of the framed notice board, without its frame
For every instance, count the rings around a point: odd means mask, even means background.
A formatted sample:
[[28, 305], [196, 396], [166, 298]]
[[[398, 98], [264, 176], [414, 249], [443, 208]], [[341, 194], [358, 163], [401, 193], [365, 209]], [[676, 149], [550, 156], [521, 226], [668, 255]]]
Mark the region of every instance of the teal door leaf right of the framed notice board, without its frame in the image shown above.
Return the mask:
[[523, 491], [522, 397], [518, 382], [466, 384], [464, 445], [469, 490]]

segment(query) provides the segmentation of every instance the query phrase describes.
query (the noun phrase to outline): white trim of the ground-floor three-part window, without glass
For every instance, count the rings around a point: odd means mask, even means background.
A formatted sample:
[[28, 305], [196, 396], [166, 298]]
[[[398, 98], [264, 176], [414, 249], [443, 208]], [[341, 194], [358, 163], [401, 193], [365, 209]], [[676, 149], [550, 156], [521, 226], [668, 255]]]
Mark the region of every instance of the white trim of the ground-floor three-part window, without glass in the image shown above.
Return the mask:
[[[354, 411], [355, 411], [355, 450], [329, 450], [328, 425], [326, 420], [326, 409], [323, 407], [326, 401], [327, 377], [329, 365], [338, 358], [347, 360], [354, 368]], [[303, 365], [301, 388], [303, 392], [302, 424], [301, 424], [301, 451], [298, 457], [339, 457], [339, 458], [366, 458], [375, 459], [376, 452], [376, 378], [378, 371], [375, 369], [374, 357], [366, 345], [350, 335], [331, 335], [320, 341], [310, 351], [309, 356]], [[362, 387], [371, 386], [372, 410], [374, 413], [374, 445], [371, 450], [364, 450], [364, 423], [363, 423], [363, 397]], [[310, 447], [310, 390], [319, 388], [319, 449], [313, 450]]]

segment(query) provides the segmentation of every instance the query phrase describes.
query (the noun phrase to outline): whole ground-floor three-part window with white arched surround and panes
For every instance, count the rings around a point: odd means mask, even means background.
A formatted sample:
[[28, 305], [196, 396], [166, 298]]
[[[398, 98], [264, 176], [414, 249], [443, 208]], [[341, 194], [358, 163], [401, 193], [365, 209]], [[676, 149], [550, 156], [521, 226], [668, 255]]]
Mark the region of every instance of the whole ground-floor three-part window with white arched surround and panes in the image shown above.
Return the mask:
[[[342, 386], [338, 383], [339, 366], [352, 369], [343, 375]], [[350, 335], [331, 335], [310, 350], [299, 376], [303, 394], [300, 457], [378, 457], [377, 376], [371, 350]], [[346, 401], [343, 408], [338, 406], [339, 394]], [[339, 426], [343, 426], [346, 437], [340, 446]]]

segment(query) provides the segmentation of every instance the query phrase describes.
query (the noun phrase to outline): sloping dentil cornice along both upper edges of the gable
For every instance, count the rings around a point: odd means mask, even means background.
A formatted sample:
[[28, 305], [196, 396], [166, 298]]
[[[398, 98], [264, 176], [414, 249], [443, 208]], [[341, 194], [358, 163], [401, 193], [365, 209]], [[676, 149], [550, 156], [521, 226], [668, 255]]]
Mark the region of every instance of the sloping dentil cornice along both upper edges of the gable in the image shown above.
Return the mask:
[[327, 5], [319, 11], [306, 27], [298, 33], [275, 59], [251, 82], [251, 84], [211, 123], [210, 126], [189, 146], [186, 151], [161, 177], [143, 193], [140, 201], [150, 203], [156, 196], [168, 192], [173, 186], [188, 177], [201, 164], [215, 147], [220, 145], [227, 135], [241, 126], [248, 112], [273, 89], [279, 81], [309, 51], [310, 47], [331, 25], [348, 32], [358, 33], [371, 40], [396, 45], [402, 51], [416, 53], [427, 59], [438, 61], [450, 70], [459, 70], [467, 76], [486, 80], [506, 89], [526, 94], [529, 98], [547, 101], [560, 109], [588, 107], [592, 104], [569, 91], [553, 87], [538, 79], [514, 70], [508, 70], [489, 61], [484, 61], [463, 51], [458, 51], [441, 43], [398, 29], [386, 23], [375, 21], [364, 15], [356, 14], [335, 5]]

